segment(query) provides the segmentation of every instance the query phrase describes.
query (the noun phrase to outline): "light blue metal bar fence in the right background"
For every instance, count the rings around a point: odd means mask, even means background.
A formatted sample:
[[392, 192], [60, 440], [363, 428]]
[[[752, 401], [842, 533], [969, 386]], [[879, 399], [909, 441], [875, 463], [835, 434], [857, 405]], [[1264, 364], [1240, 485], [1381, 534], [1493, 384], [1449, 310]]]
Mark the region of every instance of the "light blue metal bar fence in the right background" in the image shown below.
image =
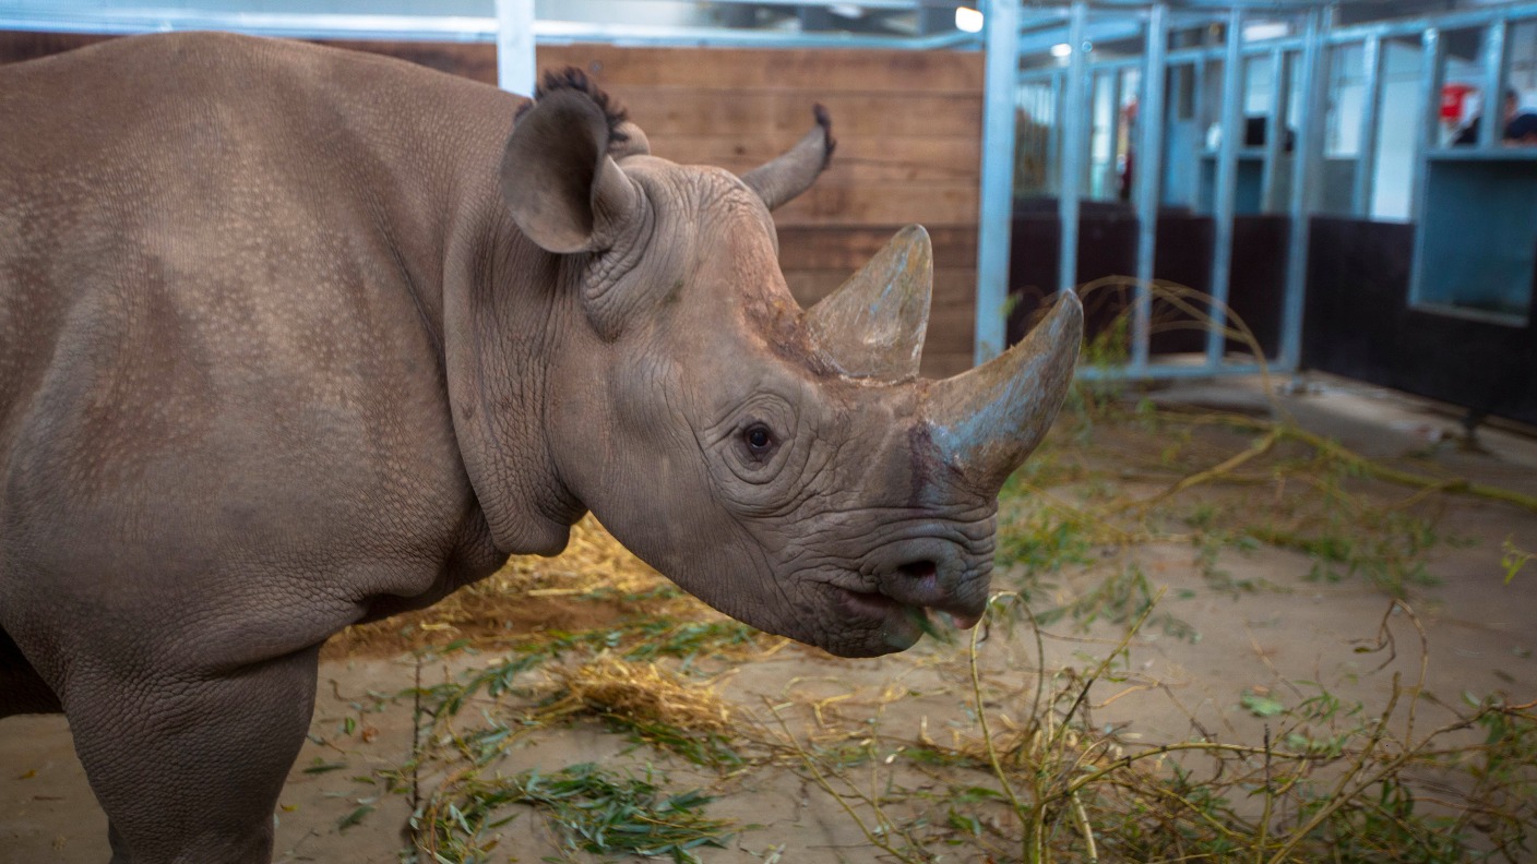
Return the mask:
[[[1331, 108], [1328, 101], [1326, 69], [1331, 61], [1331, 55], [1337, 55], [1337, 51], [1331, 49], [1359, 45], [1362, 52], [1363, 98], [1362, 115], [1359, 118], [1359, 126], [1356, 128], [1359, 151], [1356, 154], [1356, 175], [1349, 189], [1349, 209], [1359, 217], [1366, 218], [1373, 212], [1373, 197], [1376, 194], [1377, 180], [1377, 151], [1382, 146], [1380, 123], [1385, 112], [1382, 103], [1385, 86], [1383, 40], [1403, 37], [1420, 38], [1422, 74], [1416, 98], [1423, 109], [1423, 121], [1414, 129], [1414, 155], [1411, 160], [1414, 168], [1408, 204], [1411, 217], [1419, 221], [1423, 217], [1425, 206], [1426, 157], [1432, 155], [1443, 146], [1440, 141], [1437, 111], [1445, 68], [1445, 40], [1442, 38], [1442, 34], [1452, 28], [1483, 29], [1480, 68], [1482, 89], [1485, 94], [1496, 94], [1492, 97], [1486, 97], [1485, 117], [1499, 117], [1499, 100], [1503, 98], [1505, 81], [1509, 75], [1506, 63], [1506, 54], [1509, 51], [1509, 46], [1506, 45], [1506, 40], [1509, 38], [1509, 28], [1515, 22], [1537, 18], [1537, 3], [1522, 2], [1491, 6], [1486, 9], [1466, 9], [1336, 28], [1331, 26], [1333, 15], [1322, 5], [1297, 5], [1293, 9], [1302, 11], [1302, 32], [1248, 42], [1243, 38], [1242, 32], [1245, 9], [1247, 8], [1243, 6], [1228, 9], [1227, 38], [1222, 45], [1170, 48], [1168, 34], [1171, 28], [1165, 29], [1164, 34], [1157, 37], [1154, 35], [1154, 31], [1160, 26], [1168, 28], [1170, 22], [1177, 22], [1179, 17], [1170, 14], [1170, 5], [1153, 3], [1137, 12], [1145, 22], [1144, 35], [1147, 38], [1147, 45], [1144, 46], [1144, 54], [1140, 57], [1099, 60], [1079, 57], [1081, 51], [1074, 51], [1073, 57], [1070, 57], [1067, 69], [1070, 83], [1068, 94], [1065, 98], [1057, 100], [1056, 112], [1056, 115], [1062, 118], [1059, 121], [1059, 128], [1064, 134], [1064, 152], [1059, 157], [1057, 154], [1047, 154], [1048, 164], [1054, 164], [1057, 168], [1057, 175], [1061, 177], [1059, 194], [1062, 201], [1059, 211], [1064, 218], [1062, 287], [1068, 284], [1068, 274], [1073, 272], [1068, 268], [1071, 266], [1076, 269], [1076, 260], [1071, 258], [1076, 257], [1073, 255], [1077, 243], [1076, 217], [1081, 209], [1077, 198], [1081, 197], [1079, 178], [1082, 168], [1081, 161], [1074, 158], [1073, 154], [1076, 151], [1070, 143], [1076, 140], [1073, 115], [1082, 112], [1084, 108], [1082, 95], [1073, 92], [1071, 81], [1074, 78], [1082, 81], [1084, 77], [1108, 72], [1111, 69], [1120, 74], [1128, 68], [1140, 68], [1142, 72], [1139, 111], [1142, 112], [1140, 115], [1145, 121], [1137, 135], [1139, 143], [1136, 151], [1139, 172], [1136, 204], [1139, 218], [1136, 278], [1139, 284], [1131, 309], [1131, 355], [1125, 367], [1085, 371], [1085, 374], [1091, 374], [1091, 377], [1199, 377], [1214, 374], [1248, 374], [1257, 369], [1257, 364], [1253, 363], [1225, 361], [1222, 357], [1225, 340], [1219, 332], [1208, 334], [1203, 357], [1194, 364], [1188, 361], [1174, 361], [1168, 364], [1154, 363], [1148, 355], [1151, 324], [1147, 287], [1153, 278], [1153, 248], [1157, 238], [1157, 204], [1167, 194], [1159, 183], [1164, 178], [1165, 161], [1173, 157], [1162, 129], [1157, 128], [1157, 123], [1153, 121], [1153, 118], [1162, 118], [1164, 112], [1167, 112], [1167, 106], [1162, 103], [1165, 98], [1171, 98], [1167, 91], [1168, 86], [1173, 86], [1168, 83], [1168, 71], [1171, 68], [1188, 68], [1190, 74], [1194, 77], [1194, 88], [1191, 94], [1194, 106], [1191, 114], [1194, 125], [1199, 129], [1205, 128], [1205, 123], [1211, 120], [1210, 108], [1207, 106], [1207, 69], [1211, 63], [1223, 65], [1223, 88], [1220, 94], [1220, 111], [1217, 112], [1217, 126], [1220, 128], [1222, 140], [1217, 146], [1217, 152], [1214, 154], [1217, 160], [1217, 181], [1214, 183], [1214, 206], [1211, 208], [1216, 224], [1211, 294], [1217, 301], [1213, 309], [1213, 317], [1217, 320], [1219, 326], [1225, 320], [1220, 306], [1227, 301], [1227, 289], [1230, 286], [1228, 277], [1231, 272], [1233, 218], [1236, 215], [1233, 192], [1236, 181], [1236, 155], [1239, 143], [1242, 141], [1242, 126], [1239, 123], [1242, 111], [1239, 109], [1239, 100], [1243, 98], [1243, 94], [1237, 91], [1242, 91], [1239, 81], [1243, 80], [1240, 74], [1243, 60], [1263, 58], [1268, 55], [1276, 81], [1274, 101], [1266, 115], [1268, 134], [1265, 138], [1263, 154], [1265, 175], [1260, 194], [1262, 211], [1271, 211], [1280, 204], [1277, 198], [1280, 197], [1279, 177], [1282, 171], [1282, 160], [1279, 158], [1277, 151], [1283, 146], [1282, 141], [1288, 125], [1286, 118], [1293, 112], [1291, 100], [1300, 100], [1300, 105], [1303, 106], [1293, 120], [1296, 125], [1297, 143], [1291, 154], [1291, 183], [1283, 204], [1291, 223], [1286, 240], [1288, 264], [1285, 275], [1285, 294], [1282, 300], [1280, 344], [1277, 355], [1271, 358], [1271, 366], [1274, 369], [1288, 372], [1296, 371], [1300, 363], [1302, 318], [1306, 289], [1308, 220], [1316, 211], [1322, 194], [1319, 172], [1325, 163], [1325, 117]], [[1117, 8], [1116, 14], [1124, 15], [1128, 14], [1128, 11]], [[1079, 20], [1079, 15], [1084, 15], [1084, 18]], [[1073, 28], [1077, 28], [1079, 31], [1088, 28], [1093, 22], [1090, 15], [1091, 12], [1084, 9], [1084, 3], [1074, 3], [1068, 8], [1067, 42], [1076, 49], [1082, 48], [1082, 40], [1073, 38]], [[1162, 23], [1159, 23], [1159, 18], [1162, 18]], [[1053, 8], [1041, 9], [1034, 25], [1036, 29], [1031, 31], [1034, 42], [1044, 43], [1045, 40], [1056, 38], [1050, 28], [1061, 31], [1064, 28], [1064, 17], [1061, 14], [1054, 14]], [[1030, 61], [1030, 57], [1022, 55], [1022, 58], [1027, 63]], [[1085, 68], [1082, 71], [1076, 69], [1077, 61], [1084, 63]], [[1288, 72], [1290, 61], [1299, 65], [1296, 72], [1296, 92], [1286, 92], [1291, 83], [1291, 74]], [[1062, 75], [1064, 71], [1061, 68], [1030, 68], [1021, 71], [1019, 80], [1045, 83], [1061, 80]], [[1153, 94], [1157, 94], [1156, 100]], [[1489, 148], [1494, 148], [1499, 140], [1499, 134], [1500, 129], [1497, 121], [1485, 121], [1479, 135], [1480, 149], [1488, 151]], [[1068, 192], [1071, 192], [1071, 195]], [[1067, 221], [1068, 212], [1073, 214], [1071, 224]], [[1416, 251], [1416, 255], [1419, 255], [1419, 251]], [[1416, 271], [1419, 269], [1419, 261], [1416, 261], [1414, 268]], [[1411, 298], [1411, 303], [1413, 301], [1414, 298]]]

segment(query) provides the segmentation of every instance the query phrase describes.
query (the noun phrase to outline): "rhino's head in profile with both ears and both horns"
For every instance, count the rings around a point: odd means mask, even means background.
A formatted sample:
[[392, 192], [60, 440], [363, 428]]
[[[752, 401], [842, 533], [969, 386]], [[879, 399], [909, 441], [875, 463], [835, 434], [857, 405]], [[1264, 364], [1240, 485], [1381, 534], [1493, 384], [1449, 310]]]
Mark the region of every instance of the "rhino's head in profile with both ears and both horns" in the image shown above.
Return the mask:
[[553, 483], [758, 629], [873, 656], [916, 643], [930, 612], [974, 624], [998, 492], [1064, 398], [1077, 300], [993, 361], [924, 380], [922, 228], [812, 309], [785, 287], [768, 212], [825, 164], [825, 117], [735, 177], [650, 155], [599, 100], [547, 83], [503, 161], [513, 221], [558, 261]]

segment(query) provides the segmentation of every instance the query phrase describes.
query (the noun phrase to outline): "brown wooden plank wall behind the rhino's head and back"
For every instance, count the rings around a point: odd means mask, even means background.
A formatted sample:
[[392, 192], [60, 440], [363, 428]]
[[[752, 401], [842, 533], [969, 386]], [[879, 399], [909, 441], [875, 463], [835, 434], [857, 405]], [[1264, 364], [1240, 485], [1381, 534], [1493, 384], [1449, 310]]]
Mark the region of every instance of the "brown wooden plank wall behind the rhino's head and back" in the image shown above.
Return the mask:
[[[0, 61], [97, 37], [0, 34]], [[495, 83], [476, 43], [338, 42]], [[899, 228], [934, 241], [924, 372], [971, 366], [982, 141], [982, 55], [908, 51], [543, 46], [539, 66], [584, 69], [630, 111], [656, 155], [742, 172], [792, 146], [812, 105], [833, 118], [832, 168], [775, 214], [781, 264], [802, 304], [824, 297]]]

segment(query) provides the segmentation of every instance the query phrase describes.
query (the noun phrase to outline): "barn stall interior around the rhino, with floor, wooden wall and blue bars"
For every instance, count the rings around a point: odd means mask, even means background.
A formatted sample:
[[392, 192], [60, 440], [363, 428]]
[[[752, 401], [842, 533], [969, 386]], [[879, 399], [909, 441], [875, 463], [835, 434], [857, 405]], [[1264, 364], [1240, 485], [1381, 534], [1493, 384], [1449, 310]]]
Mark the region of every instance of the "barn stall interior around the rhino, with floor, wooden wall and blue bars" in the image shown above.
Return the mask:
[[[925, 375], [1088, 311], [984, 627], [839, 661], [584, 523], [327, 646], [278, 859], [1534, 853], [1537, 6], [17, 0], [0, 61], [168, 29], [575, 66], [733, 172], [821, 103], [802, 306], [921, 223]], [[0, 721], [0, 861], [108, 855], [69, 749]]]

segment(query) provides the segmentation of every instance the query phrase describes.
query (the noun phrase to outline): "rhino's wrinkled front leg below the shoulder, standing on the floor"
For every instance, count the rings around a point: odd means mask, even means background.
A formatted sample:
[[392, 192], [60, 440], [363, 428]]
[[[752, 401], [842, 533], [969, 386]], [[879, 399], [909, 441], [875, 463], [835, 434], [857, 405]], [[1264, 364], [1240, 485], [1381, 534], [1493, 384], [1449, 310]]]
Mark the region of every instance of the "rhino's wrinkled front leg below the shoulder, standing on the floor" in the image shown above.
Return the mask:
[[218, 678], [75, 669], [65, 710], [114, 864], [272, 859], [272, 810], [309, 730], [318, 650]]

